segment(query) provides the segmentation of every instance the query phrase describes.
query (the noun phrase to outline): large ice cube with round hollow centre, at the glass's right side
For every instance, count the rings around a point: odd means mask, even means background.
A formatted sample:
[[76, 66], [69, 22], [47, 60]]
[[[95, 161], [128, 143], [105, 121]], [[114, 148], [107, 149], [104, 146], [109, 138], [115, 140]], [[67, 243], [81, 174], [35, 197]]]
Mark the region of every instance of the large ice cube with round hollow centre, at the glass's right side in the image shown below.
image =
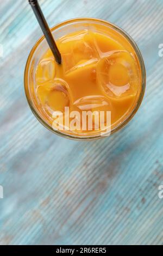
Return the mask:
[[111, 97], [135, 95], [139, 86], [139, 69], [127, 51], [111, 51], [97, 64], [97, 80]]

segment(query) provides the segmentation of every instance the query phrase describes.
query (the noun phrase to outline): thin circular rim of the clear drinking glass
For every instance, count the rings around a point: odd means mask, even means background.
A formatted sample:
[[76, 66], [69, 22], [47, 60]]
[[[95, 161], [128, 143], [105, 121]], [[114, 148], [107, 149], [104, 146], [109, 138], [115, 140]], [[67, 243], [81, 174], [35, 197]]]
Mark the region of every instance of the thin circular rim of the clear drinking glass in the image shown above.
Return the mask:
[[[131, 36], [124, 31], [124, 29], [118, 27], [117, 25], [115, 25], [114, 23], [111, 23], [109, 21], [105, 21], [102, 19], [96, 19], [93, 17], [79, 17], [79, 18], [74, 18], [74, 19], [68, 19], [65, 20], [63, 22], [58, 23], [57, 25], [53, 26], [51, 28], [51, 31], [55, 31], [56, 29], [63, 27], [65, 25], [71, 24], [71, 23], [76, 23], [76, 22], [84, 22], [84, 21], [92, 21], [92, 22], [99, 22], [102, 25], [109, 25], [112, 28], [116, 29], [117, 32], [121, 33], [130, 43], [130, 45], [134, 48], [134, 51], [136, 53], [136, 57], [139, 60], [139, 64], [140, 64], [140, 70], [141, 70], [141, 90], [140, 90], [140, 94], [139, 94], [139, 98], [137, 100], [137, 102], [135, 103], [135, 106], [133, 108], [133, 110], [129, 113], [129, 115], [127, 115], [127, 117], [117, 126], [115, 126], [113, 129], [111, 129], [110, 135], [112, 133], [115, 133], [116, 131], [122, 129], [125, 125], [128, 124], [128, 122], [134, 117], [135, 113], [137, 112], [137, 110], [139, 109], [143, 96], [145, 94], [145, 88], [146, 88], [146, 69], [145, 69], [145, 63], [143, 61], [142, 58], [142, 54], [139, 50], [139, 47], [137, 46], [136, 42], [134, 41], [133, 38], [131, 38]], [[34, 46], [32, 47], [32, 50], [29, 53], [29, 56], [27, 58], [27, 62], [26, 62], [26, 67], [24, 70], [24, 90], [25, 90], [25, 94], [26, 94], [26, 98], [28, 101], [28, 105], [30, 107], [30, 109], [32, 110], [33, 114], [35, 115], [35, 117], [40, 121], [40, 123], [45, 126], [48, 130], [52, 131], [53, 133], [61, 136], [61, 137], [65, 137], [65, 138], [69, 138], [69, 139], [75, 139], [75, 140], [80, 140], [80, 141], [86, 141], [86, 140], [94, 140], [94, 139], [100, 139], [100, 138], [106, 138], [108, 136], [102, 136], [101, 134], [99, 135], [94, 135], [94, 136], [77, 136], [77, 135], [71, 135], [68, 133], [63, 133], [59, 130], [54, 130], [52, 126], [50, 126], [49, 124], [46, 123], [46, 121], [44, 121], [41, 118], [41, 115], [37, 112], [32, 100], [29, 99], [28, 95], [27, 95], [27, 89], [29, 91], [29, 87], [28, 87], [28, 70], [29, 70], [29, 65], [30, 65], [30, 61], [34, 55], [34, 52], [36, 50], [36, 48], [40, 45], [40, 43], [42, 42], [42, 40], [45, 39], [45, 36], [42, 35], [34, 44]]]

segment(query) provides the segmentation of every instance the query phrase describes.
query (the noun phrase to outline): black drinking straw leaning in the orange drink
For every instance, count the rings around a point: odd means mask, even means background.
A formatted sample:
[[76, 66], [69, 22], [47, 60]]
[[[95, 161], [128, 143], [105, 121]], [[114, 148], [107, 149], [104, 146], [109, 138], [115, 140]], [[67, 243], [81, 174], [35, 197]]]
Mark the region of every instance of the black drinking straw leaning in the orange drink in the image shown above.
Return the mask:
[[47, 21], [46, 21], [45, 17], [43, 16], [43, 13], [41, 11], [39, 3], [37, 2], [37, 0], [28, 0], [28, 1], [34, 11], [37, 21], [39, 22], [39, 25], [42, 29], [43, 34], [45, 35], [48, 45], [52, 50], [52, 53], [54, 55], [56, 62], [61, 64], [61, 54], [60, 54], [58, 47], [56, 45], [56, 42], [53, 38], [52, 32], [49, 29]]

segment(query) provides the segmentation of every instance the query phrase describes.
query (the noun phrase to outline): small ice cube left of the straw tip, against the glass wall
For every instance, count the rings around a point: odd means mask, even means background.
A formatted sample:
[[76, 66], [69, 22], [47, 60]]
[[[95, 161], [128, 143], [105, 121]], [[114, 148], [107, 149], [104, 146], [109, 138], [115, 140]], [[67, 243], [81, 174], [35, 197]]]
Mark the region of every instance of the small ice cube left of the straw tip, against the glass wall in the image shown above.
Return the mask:
[[36, 70], [36, 83], [41, 84], [46, 81], [51, 81], [55, 76], [54, 59], [45, 58], [41, 60]]

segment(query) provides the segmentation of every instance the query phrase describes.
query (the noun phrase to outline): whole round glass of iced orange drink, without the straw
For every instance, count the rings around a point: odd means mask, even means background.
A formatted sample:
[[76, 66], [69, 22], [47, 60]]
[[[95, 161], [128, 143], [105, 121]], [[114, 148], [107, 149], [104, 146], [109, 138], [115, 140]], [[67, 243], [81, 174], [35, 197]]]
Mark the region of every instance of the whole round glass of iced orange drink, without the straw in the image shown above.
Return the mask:
[[120, 129], [145, 89], [145, 68], [134, 41], [95, 19], [67, 21], [52, 31], [61, 65], [47, 46], [41, 47], [42, 37], [26, 66], [26, 95], [36, 117], [70, 138], [99, 138]]

